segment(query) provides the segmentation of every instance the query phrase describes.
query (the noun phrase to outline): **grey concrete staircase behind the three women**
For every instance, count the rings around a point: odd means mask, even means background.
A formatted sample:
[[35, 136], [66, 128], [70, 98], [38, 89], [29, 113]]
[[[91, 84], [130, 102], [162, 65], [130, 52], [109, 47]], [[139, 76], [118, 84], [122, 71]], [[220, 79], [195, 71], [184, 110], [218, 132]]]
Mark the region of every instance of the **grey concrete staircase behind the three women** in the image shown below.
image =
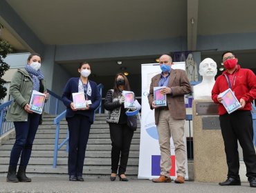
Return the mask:
[[[55, 143], [55, 125], [51, 115], [44, 115], [43, 124], [39, 125], [27, 172], [34, 174], [67, 174], [68, 153], [66, 145], [58, 152], [57, 167], [53, 168], [53, 150]], [[111, 140], [109, 125], [105, 121], [106, 114], [96, 114], [91, 125], [89, 141], [84, 160], [84, 174], [105, 176], [111, 173]], [[139, 121], [138, 126], [140, 127]], [[67, 124], [62, 120], [60, 125], [60, 141], [66, 138]], [[15, 143], [15, 136], [2, 141], [0, 146], [0, 173], [8, 171], [10, 150]], [[59, 142], [61, 143], [61, 142]], [[138, 156], [140, 143], [140, 128], [134, 133], [127, 166], [127, 175], [138, 175]]]

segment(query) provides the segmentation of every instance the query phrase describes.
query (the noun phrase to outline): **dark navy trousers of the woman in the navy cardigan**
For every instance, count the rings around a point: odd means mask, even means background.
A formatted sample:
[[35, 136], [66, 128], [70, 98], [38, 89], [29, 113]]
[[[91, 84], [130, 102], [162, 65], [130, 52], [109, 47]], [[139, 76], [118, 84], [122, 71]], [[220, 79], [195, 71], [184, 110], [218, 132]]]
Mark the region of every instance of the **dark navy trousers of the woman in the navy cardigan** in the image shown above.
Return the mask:
[[80, 114], [68, 117], [66, 121], [68, 122], [69, 131], [68, 174], [82, 176], [91, 123], [88, 117]]

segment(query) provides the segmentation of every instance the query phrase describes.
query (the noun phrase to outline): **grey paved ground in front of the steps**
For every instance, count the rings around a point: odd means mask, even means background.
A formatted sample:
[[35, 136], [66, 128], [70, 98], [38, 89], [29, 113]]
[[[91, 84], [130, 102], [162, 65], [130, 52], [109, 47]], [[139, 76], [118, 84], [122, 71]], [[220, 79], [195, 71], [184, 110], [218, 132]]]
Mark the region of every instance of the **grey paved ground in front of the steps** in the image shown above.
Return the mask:
[[236, 193], [256, 192], [249, 183], [241, 186], [221, 187], [217, 183], [198, 183], [186, 181], [184, 184], [152, 183], [149, 180], [131, 179], [129, 182], [109, 181], [108, 177], [86, 178], [84, 182], [71, 182], [65, 176], [33, 176], [31, 183], [7, 183], [5, 176], [0, 176], [0, 193], [3, 192], [191, 192], [191, 193]]

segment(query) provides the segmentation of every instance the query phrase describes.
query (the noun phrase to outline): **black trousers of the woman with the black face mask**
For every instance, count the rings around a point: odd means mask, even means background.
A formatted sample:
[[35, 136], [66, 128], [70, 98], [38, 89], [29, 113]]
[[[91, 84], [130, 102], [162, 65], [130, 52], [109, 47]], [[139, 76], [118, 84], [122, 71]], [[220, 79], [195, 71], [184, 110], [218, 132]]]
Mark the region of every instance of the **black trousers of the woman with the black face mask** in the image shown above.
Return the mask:
[[[111, 150], [111, 170], [112, 173], [125, 174], [131, 139], [134, 136], [134, 131], [126, 124], [109, 123], [110, 138], [112, 141]], [[118, 170], [118, 163], [120, 166]]]

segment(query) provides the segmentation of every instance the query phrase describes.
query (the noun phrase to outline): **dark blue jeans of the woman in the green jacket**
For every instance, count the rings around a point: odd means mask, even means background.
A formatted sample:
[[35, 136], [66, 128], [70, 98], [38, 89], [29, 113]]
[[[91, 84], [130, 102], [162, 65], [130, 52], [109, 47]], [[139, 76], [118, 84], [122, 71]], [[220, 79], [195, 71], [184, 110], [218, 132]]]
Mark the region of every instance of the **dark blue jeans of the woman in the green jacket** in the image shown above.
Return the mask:
[[10, 152], [10, 165], [17, 166], [19, 156], [21, 156], [19, 165], [27, 166], [30, 159], [33, 141], [39, 125], [40, 114], [28, 114], [28, 121], [14, 121], [16, 141]]

